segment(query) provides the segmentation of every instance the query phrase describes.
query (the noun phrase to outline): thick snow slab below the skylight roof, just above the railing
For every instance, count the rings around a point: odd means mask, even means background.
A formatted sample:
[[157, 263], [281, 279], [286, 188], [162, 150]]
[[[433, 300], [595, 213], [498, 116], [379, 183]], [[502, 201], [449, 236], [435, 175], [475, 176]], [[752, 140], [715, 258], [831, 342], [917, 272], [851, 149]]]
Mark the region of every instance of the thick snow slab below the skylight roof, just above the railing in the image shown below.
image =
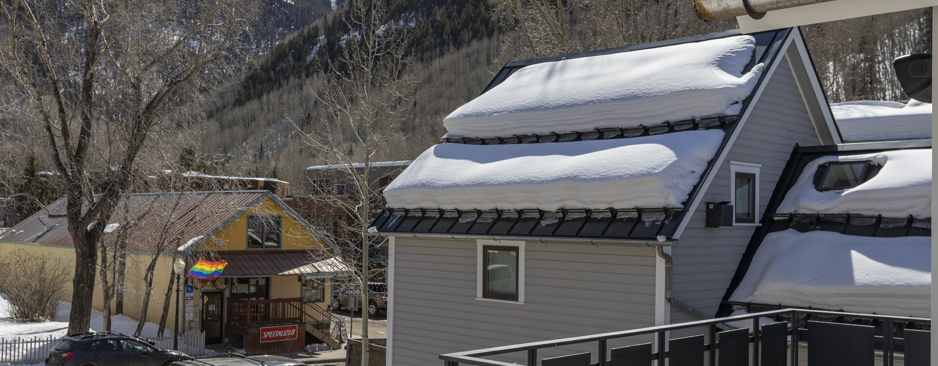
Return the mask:
[[731, 301], [930, 317], [930, 237], [765, 236]]

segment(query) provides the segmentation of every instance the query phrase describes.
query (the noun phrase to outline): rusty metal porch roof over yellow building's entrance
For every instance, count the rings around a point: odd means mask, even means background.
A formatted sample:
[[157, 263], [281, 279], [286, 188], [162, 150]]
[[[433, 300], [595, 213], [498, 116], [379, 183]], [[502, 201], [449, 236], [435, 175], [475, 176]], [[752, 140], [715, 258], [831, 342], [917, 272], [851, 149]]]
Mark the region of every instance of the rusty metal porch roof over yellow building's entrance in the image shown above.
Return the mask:
[[214, 256], [228, 262], [224, 276], [289, 276], [340, 272], [345, 268], [334, 257], [315, 260], [304, 250], [221, 251]]

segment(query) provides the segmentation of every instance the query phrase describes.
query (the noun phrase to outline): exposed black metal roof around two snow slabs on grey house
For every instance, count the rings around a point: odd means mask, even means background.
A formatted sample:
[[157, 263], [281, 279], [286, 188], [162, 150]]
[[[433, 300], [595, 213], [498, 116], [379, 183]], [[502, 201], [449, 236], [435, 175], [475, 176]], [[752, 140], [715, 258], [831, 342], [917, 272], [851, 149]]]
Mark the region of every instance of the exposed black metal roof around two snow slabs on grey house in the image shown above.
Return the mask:
[[[774, 64], [779, 57], [782, 43], [786, 37], [794, 32], [794, 28], [779, 29], [760, 32], [751, 35], [755, 37], [756, 46], [747, 68], [763, 63], [768, 66]], [[492, 81], [482, 90], [489, 91], [493, 86], [505, 81], [512, 73], [524, 66], [560, 61], [570, 58], [589, 57], [601, 54], [610, 54], [626, 51], [637, 51], [658, 47], [672, 46], [682, 43], [698, 42], [722, 37], [740, 35], [739, 30], [712, 33], [702, 36], [683, 37], [665, 41], [651, 42], [641, 45], [613, 48], [599, 51], [585, 51], [567, 55], [542, 57], [531, 60], [513, 61], [502, 66]], [[767, 72], [759, 76], [757, 85], [753, 88], [759, 90], [765, 81]], [[752, 95], [743, 101], [740, 116], [749, 109]], [[662, 106], [667, 108], [667, 106]], [[628, 112], [628, 111], [624, 111]], [[720, 128], [726, 136], [720, 144], [719, 151], [701, 174], [701, 180], [694, 185], [688, 195], [687, 202], [700, 199], [701, 182], [710, 175], [717, 163], [719, 154], [727, 148], [734, 130], [739, 127], [739, 116], [726, 116], [717, 118], [694, 119], [688, 121], [675, 121], [665, 124], [639, 126], [635, 128], [608, 128], [592, 131], [580, 131], [566, 134], [513, 136], [494, 139], [462, 138], [441, 139], [441, 143], [456, 142], [477, 145], [532, 143], [532, 142], [562, 142], [571, 140], [589, 139], [624, 139], [664, 133], [676, 133], [689, 129]], [[585, 212], [585, 216], [579, 216]], [[574, 213], [571, 215], [571, 213]], [[403, 210], [387, 208], [371, 223], [382, 234], [391, 233], [434, 233], [434, 234], [460, 234], [498, 237], [556, 237], [556, 238], [597, 238], [597, 239], [628, 239], [658, 241], [663, 236], [665, 241], [672, 241], [674, 232], [681, 221], [686, 218], [686, 210], [682, 208], [638, 208], [631, 210], [560, 210], [558, 212], [544, 212], [539, 210], [522, 211], [456, 211], [439, 210], [437, 208], [422, 208]], [[573, 217], [577, 216], [577, 217]], [[545, 222], [545, 217], [556, 222], [537, 225]], [[652, 219], [654, 217], [654, 219]], [[658, 217], [662, 217], [658, 221]], [[641, 224], [639, 224], [641, 223]], [[577, 227], [580, 225], [580, 227]]]

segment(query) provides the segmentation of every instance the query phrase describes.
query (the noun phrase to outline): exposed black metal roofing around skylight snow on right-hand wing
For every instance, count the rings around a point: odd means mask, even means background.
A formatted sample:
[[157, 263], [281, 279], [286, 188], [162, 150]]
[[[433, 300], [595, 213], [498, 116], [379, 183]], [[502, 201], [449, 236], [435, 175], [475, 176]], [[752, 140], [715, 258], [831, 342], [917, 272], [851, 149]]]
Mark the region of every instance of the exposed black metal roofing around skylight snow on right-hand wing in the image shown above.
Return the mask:
[[930, 149], [930, 139], [912, 139], [900, 141], [844, 143], [838, 145], [797, 146], [795, 145], [791, 157], [782, 170], [779, 183], [772, 192], [772, 198], [765, 206], [765, 213], [760, 223], [749, 239], [746, 252], [739, 261], [739, 266], [723, 296], [718, 316], [729, 315], [732, 306], [727, 303], [736, 287], [743, 281], [752, 257], [762, 244], [765, 236], [772, 232], [793, 228], [799, 232], [808, 231], [834, 231], [841, 234], [896, 238], [905, 236], [931, 236], [931, 218], [916, 218], [913, 216], [884, 217], [882, 215], [863, 215], [846, 213], [778, 213], [779, 204], [792, 189], [801, 173], [808, 164], [820, 157], [830, 155], [871, 154], [886, 151], [906, 149]]

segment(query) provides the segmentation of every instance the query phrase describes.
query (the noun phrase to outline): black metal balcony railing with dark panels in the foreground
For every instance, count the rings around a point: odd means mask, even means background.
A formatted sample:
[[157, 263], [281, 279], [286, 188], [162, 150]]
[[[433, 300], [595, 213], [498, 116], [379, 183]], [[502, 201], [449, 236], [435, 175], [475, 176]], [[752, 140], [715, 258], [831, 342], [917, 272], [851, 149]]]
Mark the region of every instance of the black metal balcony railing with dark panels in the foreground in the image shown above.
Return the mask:
[[[760, 324], [763, 318], [781, 319]], [[815, 321], [812, 318], [839, 319]], [[844, 319], [866, 321], [847, 324]], [[749, 328], [718, 331], [718, 324], [751, 321]], [[764, 313], [728, 316], [682, 324], [645, 329], [616, 331], [528, 344], [505, 345], [440, 355], [446, 366], [459, 364], [477, 366], [512, 366], [492, 356], [526, 359], [528, 366], [620, 366], [658, 364], [667, 359], [671, 365], [786, 365], [797, 366], [799, 351], [807, 353], [809, 365], [843, 364], [873, 365], [882, 358], [884, 366], [893, 366], [897, 354], [907, 366], [928, 365], [930, 362], [930, 319], [783, 309]], [[872, 324], [872, 325], [868, 325]], [[910, 324], [926, 329], [909, 329]], [[704, 328], [705, 333], [668, 339], [669, 331]], [[877, 334], [877, 329], [880, 329]], [[610, 348], [612, 340], [654, 336], [654, 343], [636, 343]], [[795, 341], [795, 342], [791, 342]], [[595, 351], [549, 359], [539, 359], [538, 351], [571, 344], [594, 344]], [[794, 345], [793, 345], [794, 344]], [[751, 345], [751, 346], [750, 346]], [[806, 346], [806, 347], [805, 347]], [[524, 353], [522, 356], [521, 353]], [[552, 352], [556, 354], [557, 352]], [[594, 362], [592, 359], [597, 359]], [[706, 361], [704, 361], [706, 359]], [[539, 363], [538, 363], [539, 362]], [[833, 363], [832, 363], [833, 362]]]

